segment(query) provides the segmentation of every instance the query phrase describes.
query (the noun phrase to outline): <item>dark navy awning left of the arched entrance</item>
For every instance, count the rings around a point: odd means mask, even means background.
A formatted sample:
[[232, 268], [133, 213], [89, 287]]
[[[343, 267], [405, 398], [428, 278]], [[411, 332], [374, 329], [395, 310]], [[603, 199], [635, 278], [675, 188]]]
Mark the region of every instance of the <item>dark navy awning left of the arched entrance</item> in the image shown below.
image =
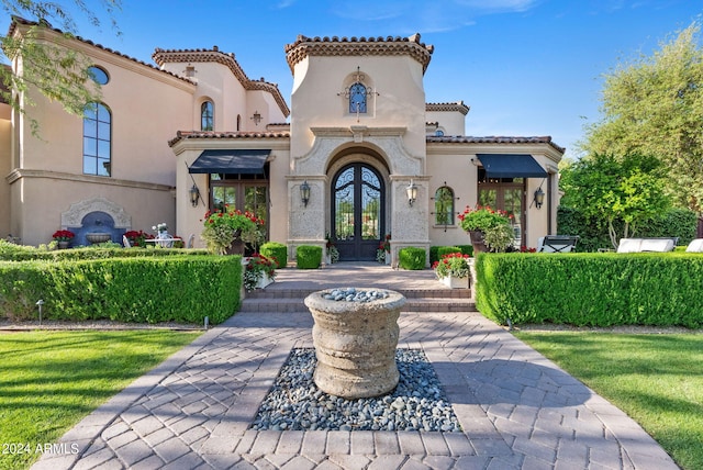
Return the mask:
[[270, 149], [203, 150], [188, 172], [263, 175], [264, 164], [270, 154]]

